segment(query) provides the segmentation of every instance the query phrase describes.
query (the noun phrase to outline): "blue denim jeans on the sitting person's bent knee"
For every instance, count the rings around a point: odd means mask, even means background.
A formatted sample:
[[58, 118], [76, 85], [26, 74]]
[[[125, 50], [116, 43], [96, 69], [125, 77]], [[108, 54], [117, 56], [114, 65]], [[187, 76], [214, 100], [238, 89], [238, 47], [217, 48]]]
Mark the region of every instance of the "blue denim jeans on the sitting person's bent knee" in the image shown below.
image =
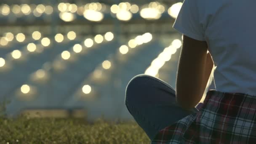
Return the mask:
[[128, 83], [125, 105], [150, 140], [161, 129], [198, 111], [181, 109], [175, 93], [171, 85], [149, 75], [137, 75]]

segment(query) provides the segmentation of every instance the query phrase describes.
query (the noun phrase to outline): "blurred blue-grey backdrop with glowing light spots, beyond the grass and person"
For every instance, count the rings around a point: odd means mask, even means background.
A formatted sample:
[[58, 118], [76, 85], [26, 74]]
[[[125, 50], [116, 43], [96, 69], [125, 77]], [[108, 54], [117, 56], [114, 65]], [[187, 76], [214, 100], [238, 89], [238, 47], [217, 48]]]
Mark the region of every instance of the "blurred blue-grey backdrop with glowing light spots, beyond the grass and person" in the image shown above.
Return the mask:
[[182, 0], [1, 0], [0, 102], [15, 117], [133, 119], [132, 77], [175, 88]]

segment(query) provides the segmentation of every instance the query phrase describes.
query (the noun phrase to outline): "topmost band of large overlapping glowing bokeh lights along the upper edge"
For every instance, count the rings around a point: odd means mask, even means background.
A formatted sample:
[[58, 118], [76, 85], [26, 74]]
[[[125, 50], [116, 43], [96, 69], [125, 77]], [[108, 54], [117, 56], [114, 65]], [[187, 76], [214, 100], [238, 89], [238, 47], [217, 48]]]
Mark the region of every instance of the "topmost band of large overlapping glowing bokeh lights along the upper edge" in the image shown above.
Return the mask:
[[[176, 18], [182, 3], [175, 3], [167, 9], [168, 14]], [[151, 2], [146, 5], [142, 5], [139, 8], [136, 4], [131, 4], [128, 2], [119, 3], [108, 6], [103, 3], [87, 3], [86, 5], [77, 6], [76, 4], [70, 3], [59, 3], [58, 6], [59, 17], [63, 21], [74, 21], [76, 19], [76, 14], [84, 16], [85, 19], [89, 21], [101, 21], [104, 18], [104, 12], [107, 12], [109, 8], [110, 12], [114, 14], [120, 21], [129, 21], [133, 13], [140, 13], [140, 16], [144, 19], [159, 19], [162, 13], [166, 11], [167, 6], [160, 4], [159, 2]], [[23, 14], [29, 15], [33, 13], [34, 16], [39, 17], [43, 13], [50, 15], [53, 13], [54, 7], [51, 5], [35, 5], [35, 4], [22, 4], [22, 5], [9, 5], [3, 4], [0, 6], [0, 13], [3, 16], [8, 16], [11, 12], [15, 16], [20, 17]]]

